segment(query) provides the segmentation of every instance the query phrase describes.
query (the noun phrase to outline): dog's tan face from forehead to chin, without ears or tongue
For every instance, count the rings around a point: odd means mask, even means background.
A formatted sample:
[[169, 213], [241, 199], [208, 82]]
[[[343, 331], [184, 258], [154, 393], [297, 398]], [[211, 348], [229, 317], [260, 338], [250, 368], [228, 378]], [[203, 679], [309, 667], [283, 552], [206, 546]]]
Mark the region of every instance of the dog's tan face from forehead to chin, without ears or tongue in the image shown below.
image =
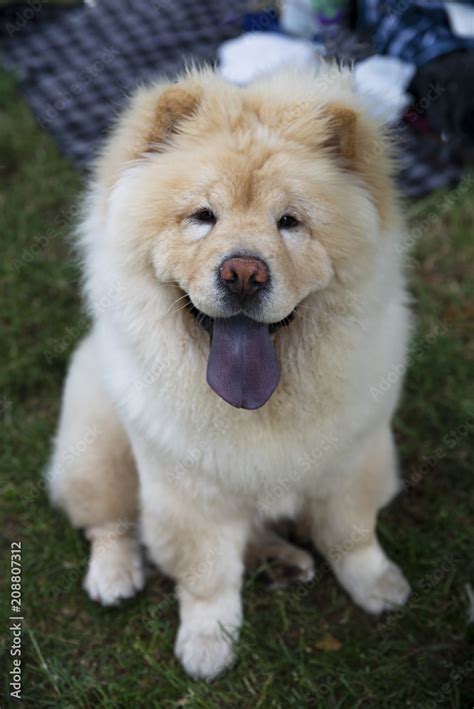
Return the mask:
[[314, 203], [313, 165], [285, 146], [226, 142], [186, 150], [179, 167], [173, 156], [173, 179], [181, 174], [176, 191], [165, 187], [156, 276], [177, 282], [210, 318], [244, 313], [278, 323], [333, 276], [318, 239], [325, 215]]

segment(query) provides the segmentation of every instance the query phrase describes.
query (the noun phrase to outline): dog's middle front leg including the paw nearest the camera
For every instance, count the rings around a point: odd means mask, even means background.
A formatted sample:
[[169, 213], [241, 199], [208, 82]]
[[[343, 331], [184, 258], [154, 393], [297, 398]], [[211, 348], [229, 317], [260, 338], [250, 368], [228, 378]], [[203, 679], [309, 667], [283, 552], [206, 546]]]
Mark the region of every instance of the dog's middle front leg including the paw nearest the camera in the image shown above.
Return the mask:
[[249, 524], [212, 503], [203, 506], [166, 481], [143, 448], [136, 454], [143, 538], [155, 563], [177, 582], [175, 653], [191, 677], [211, 681], [234, 660]]

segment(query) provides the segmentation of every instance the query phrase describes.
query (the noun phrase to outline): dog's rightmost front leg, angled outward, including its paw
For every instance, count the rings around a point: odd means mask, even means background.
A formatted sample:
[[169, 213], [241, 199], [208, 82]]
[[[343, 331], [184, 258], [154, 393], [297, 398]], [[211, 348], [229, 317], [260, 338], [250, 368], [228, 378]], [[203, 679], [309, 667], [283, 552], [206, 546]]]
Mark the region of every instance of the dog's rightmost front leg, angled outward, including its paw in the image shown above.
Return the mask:
[[[313, 539], [342, 586], [369, 613], [405, 603], [410, 587], [385, 555], [376, 534], [378, 510], [398, 489], [396, 456], [388, 428], [377, 434], [362, 466], [347, 484], [325, 498], [313, 499]], [[346, 477], [347, 480], [347, 477]]]

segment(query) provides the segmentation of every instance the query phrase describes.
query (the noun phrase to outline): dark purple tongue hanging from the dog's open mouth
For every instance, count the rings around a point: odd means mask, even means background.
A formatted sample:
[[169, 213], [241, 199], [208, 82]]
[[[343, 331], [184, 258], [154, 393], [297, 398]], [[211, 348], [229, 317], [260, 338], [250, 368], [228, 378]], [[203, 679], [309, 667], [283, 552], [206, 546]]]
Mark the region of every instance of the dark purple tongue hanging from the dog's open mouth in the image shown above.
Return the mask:
[[258, 409], [280, 380], [269, 326], [236, 315], [214, 320], [207, 383], [232, 406]]

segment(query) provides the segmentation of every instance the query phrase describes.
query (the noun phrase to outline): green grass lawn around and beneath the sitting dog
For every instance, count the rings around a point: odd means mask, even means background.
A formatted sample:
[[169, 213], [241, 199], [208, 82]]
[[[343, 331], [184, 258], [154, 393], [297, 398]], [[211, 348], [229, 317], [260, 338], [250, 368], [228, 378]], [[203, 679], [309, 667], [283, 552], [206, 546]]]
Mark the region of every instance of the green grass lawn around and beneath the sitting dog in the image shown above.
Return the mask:
[[411, 600], [370, 618], [321, 562], [308, 587], [273, 592], [249, 578], [237, 666], [212, 685], [195, 683], [173, 656], [170, 582], [151, 578], [118, 609], [92, 603], [81, 590], [86, 542], [41, 484], [68, 358], [87, 328], [66, 239], [80, 180], [3, 74], [0, 97], [2, 706], [14, 705], [9, 550], [21, 540], [26, 705], [472, 707], [474, 179], [406, 207], [418, 236], [410, 276], [418, 329], [396, 421], [407, 485], [379, 533]]

